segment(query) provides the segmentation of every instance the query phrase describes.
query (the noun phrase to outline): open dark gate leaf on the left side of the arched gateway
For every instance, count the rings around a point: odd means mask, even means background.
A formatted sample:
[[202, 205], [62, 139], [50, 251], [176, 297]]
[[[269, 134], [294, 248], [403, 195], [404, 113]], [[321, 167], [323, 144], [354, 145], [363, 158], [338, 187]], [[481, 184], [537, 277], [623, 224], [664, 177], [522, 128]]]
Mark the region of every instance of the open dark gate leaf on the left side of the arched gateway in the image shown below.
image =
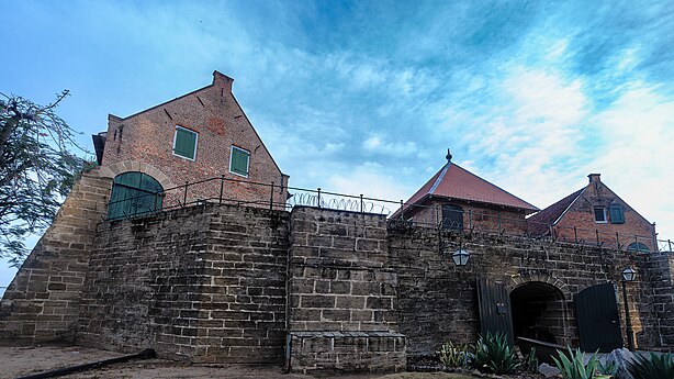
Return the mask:
[[478, 304], [480, 308], [480, 332], [486, 335], [503, 333], [510, 346], [514, 343], [510, 297], [503, 283], [478, 278]]

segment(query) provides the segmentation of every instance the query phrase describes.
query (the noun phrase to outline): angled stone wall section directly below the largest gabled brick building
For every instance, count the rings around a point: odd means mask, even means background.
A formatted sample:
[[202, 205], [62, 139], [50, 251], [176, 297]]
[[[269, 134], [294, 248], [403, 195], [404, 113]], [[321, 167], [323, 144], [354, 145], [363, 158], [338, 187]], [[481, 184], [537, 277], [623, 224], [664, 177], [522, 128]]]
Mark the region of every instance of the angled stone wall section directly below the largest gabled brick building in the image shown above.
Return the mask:
[[277, 363], [288, 213], [201, 205], [103, 223], [77, 342], [195, 363]]

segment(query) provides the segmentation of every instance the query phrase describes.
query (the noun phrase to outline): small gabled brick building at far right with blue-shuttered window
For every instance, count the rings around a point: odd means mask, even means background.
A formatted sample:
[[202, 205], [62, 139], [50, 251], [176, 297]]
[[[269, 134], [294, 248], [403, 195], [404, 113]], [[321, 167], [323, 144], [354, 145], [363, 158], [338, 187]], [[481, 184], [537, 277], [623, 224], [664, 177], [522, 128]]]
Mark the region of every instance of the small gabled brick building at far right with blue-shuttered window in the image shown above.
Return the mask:
[[528, 219], [533, 233], [618, 249], [655, 250], [655, 225], [602, 182], [599, 174], [587, 177], [587, 186]]

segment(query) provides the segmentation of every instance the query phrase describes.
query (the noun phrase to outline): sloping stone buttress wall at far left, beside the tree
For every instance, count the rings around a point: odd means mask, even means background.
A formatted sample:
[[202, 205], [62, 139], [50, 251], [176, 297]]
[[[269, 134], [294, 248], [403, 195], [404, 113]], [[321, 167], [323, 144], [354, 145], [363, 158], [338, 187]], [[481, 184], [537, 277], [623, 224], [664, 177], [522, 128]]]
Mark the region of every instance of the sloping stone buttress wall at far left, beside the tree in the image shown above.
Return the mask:
[[4, 292], [0, 338], [72, 342], [96, 225], [105, 214], [111, 186], [98, 169], [82, 174]]

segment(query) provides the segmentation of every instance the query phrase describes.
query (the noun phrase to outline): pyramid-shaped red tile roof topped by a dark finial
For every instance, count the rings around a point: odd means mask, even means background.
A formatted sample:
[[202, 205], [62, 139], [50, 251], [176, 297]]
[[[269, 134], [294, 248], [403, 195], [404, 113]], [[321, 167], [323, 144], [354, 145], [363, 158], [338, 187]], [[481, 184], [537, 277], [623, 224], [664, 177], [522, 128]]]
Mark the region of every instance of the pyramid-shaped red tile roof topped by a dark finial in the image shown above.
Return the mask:
[[535, 205], [451, 161], [413, 194], [406, 204], [415, 204], [427, 196], [516, 208], [527, 213], [538, 211]]

